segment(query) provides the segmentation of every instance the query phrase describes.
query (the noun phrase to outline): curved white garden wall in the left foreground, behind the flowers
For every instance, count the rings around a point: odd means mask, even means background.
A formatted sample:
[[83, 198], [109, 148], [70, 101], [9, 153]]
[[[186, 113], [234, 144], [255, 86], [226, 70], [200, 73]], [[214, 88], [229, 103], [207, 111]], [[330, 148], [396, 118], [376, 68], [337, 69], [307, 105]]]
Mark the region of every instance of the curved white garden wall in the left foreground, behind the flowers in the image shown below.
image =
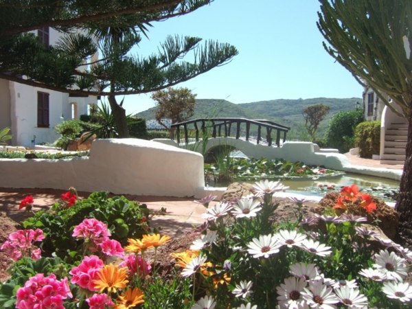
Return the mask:
[[97, 139], [71, 160], [0, 159], [0, 187], [194, 196], [204, 186], [202, 155], [143, 139]]

